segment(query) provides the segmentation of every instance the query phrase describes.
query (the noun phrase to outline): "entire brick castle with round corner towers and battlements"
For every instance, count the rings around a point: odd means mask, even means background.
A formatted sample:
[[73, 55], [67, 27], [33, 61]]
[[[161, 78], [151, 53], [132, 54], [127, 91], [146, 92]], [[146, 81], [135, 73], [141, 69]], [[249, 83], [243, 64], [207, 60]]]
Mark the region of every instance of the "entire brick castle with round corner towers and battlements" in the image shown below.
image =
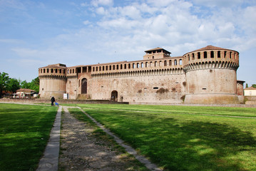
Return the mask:
[[239, 53], [206, 46], [171, 57], [163, 48], [145, 51], [143, 60], [39, 68], [41, 98], [113, 100], [129, 103], [237, 104]]

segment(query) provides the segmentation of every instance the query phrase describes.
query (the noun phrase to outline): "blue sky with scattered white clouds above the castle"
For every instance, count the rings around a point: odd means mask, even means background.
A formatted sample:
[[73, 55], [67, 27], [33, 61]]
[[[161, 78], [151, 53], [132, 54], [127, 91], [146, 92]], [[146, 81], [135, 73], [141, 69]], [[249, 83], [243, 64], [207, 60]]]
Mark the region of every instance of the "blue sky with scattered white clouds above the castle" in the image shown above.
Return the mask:
[[237, 79], [256, 83], [255, 0], [0, 0], [0, 72], [171, 56], [208, 45], [240, 52]]

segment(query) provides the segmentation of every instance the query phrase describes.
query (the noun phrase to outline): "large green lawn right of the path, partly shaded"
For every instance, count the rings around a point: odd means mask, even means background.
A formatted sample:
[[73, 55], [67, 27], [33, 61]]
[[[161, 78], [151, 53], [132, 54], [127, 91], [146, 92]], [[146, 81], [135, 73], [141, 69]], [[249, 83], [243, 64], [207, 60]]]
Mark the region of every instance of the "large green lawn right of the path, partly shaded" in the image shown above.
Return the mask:
[[256, 170], [256, 108], [79, 106], [165, 170]]

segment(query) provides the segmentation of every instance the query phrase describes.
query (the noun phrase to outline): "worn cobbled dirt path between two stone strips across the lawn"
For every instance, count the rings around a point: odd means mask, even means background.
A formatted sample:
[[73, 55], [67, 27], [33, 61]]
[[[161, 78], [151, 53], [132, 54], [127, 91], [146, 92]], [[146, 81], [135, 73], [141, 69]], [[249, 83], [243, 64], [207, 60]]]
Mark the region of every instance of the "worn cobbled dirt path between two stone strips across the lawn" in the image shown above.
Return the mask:
[[63, 108], [58, 170], [147, 170], [134, 157], [102, 142], [93, 135], [95, 128], [77, 120]]

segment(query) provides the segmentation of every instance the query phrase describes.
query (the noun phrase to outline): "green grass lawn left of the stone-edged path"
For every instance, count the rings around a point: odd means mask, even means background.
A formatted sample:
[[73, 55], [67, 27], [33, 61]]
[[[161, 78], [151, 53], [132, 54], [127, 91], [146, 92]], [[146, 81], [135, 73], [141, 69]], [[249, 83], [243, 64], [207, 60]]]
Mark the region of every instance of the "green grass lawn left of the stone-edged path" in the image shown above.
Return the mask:
[[0, 170], [36, 170], [57, 109], [0, 103]]

